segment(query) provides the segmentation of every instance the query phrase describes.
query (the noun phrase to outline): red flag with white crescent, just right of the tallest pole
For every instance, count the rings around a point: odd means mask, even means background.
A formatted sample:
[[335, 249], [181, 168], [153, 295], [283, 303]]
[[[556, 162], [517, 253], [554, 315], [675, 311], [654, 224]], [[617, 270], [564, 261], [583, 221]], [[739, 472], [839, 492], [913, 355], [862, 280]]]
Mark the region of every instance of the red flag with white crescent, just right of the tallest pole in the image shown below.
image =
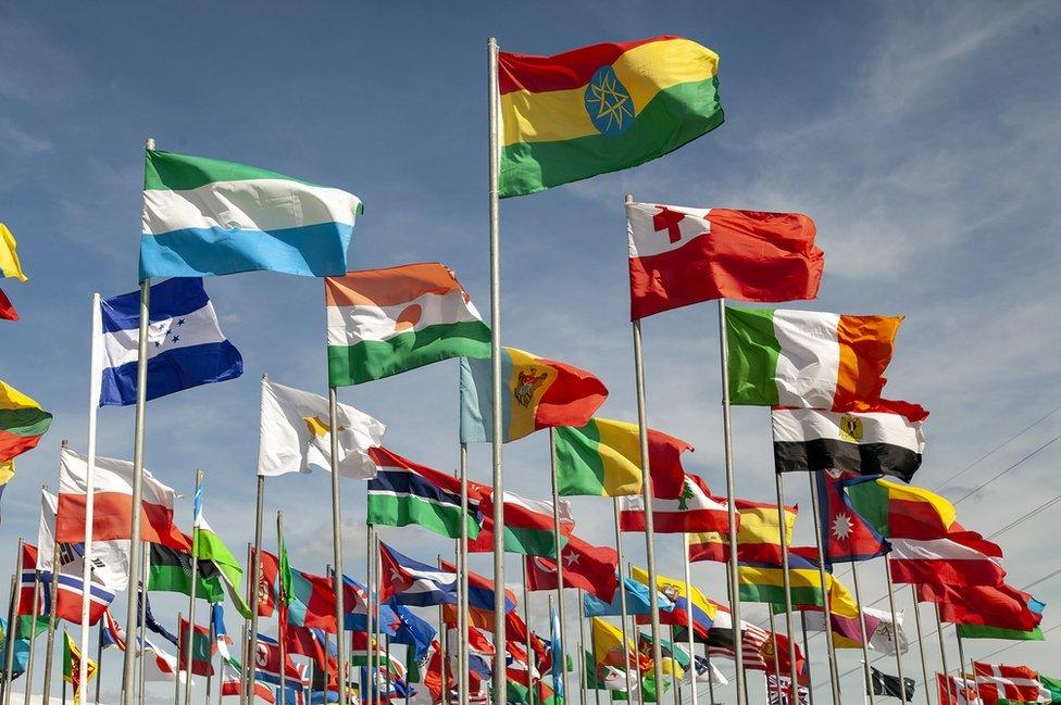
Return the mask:
[[[563, 561], [563, 587], [577, 588], [588, 594], [611, 602], [619, 583], [619, 554], [610, 546], [595, 546], [574, 534], [560, 552]], [[557, 562], [542, 556], [524, 558], [527, 590], [556, 590], [559, 575]]]

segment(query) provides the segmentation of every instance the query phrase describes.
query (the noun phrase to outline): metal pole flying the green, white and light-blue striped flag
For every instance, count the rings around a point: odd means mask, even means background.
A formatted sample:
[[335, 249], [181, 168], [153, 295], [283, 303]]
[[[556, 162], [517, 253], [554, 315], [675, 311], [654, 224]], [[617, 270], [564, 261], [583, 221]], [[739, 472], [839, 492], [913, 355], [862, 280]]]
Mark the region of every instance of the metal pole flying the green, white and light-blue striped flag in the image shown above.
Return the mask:
[[[145, 149], [154, 149], [154, 139], [148, 138]], [[148, 325], [151, 319], [151, 279], [140, 282], [140, 327], [137, 333], [136, 363], [136, 414], [133, 426], [133, 517], [129, 521], [129, 584], [140, 581], [140, 515], [143, 512], [143, 415], [147, 411], [148, 394]], [[195, 564], [195, 562], [192, 562]], [[88, 589], [88, 586], [84, 586]], [[136, 624], [136, 592], [126, 595], [126, 626]], [[122, 663], [122, 705], [133, 705], [133, 651], [125, 650]], [[190, 679], [189, 679], [190, 680]]]

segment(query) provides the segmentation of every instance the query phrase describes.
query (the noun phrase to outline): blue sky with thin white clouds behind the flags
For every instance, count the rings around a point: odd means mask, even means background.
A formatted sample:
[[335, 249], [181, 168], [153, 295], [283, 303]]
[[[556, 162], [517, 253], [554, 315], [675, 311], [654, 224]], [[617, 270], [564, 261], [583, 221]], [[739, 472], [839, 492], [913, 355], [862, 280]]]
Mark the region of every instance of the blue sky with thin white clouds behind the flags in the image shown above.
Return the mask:
[[[36, 536], [36, 490], [57, 482], [60, 440], [85, 446], [89, 297], [136, 287], [145, 138], [357, 193], [365, 213], [351, 267], [438, 260], [488, 311], [491, 35], [504, 50], [552, 53], [682, 34], [721, 55], [726, 110], [722, 127], [662, 160], [502, 203], [505, 344], [594, 370], [611, 390], [603, 412], [633, 418], [623, 194], [801, 211], [817, 223], [826, 270], [820, 299], [798, 307], [907, 316], [887, 392], [932, 410], [916, 482], [935, 488], [1046, 416], [943, 490], [965, 495], [1061, 433], [1061, 414], [1048, 416], [1061, 389], [1059, 14], [1045, 1], [466, 3], [460, 11], [441, 3], [5, 4], [0, 219], [18, 238], [32, 279], [2, 285], [23, 319], [0, 325], [0, 378], [55, 421], [17, 462], [0, 556], [11, 559], [18, 536]], [[207, 289], [246, 374], [152, 402], [147, 467], [189, 496], [202, 468], [207, 515], [238, 552], [252, 537], [258, 380], [267, 372], [325, 391], [323, 291], [317, 280], [273, 274], [215, 278]], [[715, 307], [662, 314], [644, 333], [650, 423], [694, 443], [687, 467], [721, 491]], [[397, 452], [449, 470], [455, 382], [455, 362], [447, 362], [344, 389], [340, 400], [384, 420]], [[767, 415], [738, 408], [734, 425], [738, 494], [769, 500]], [[132, 428], [130, 408], [102, 410], [100, 451], [129, 457]], [[989, 536], [1052, 499], [1059, 448], [1046, 445], [974, 492], [959, 504], [960, 519]], [[488, 449], [473, 449], [471, 461], [473, 477], [486, 479]], [[545, 496], [547, 463], [545, 435], [511, 444], [508, 487]], [[809, 509], [800, 480], [788, 480], [786, 500]], [[304, 569], [323, 571], [329, 562], [328, 487], [326, 474], [269, 484], [266, 506], [285, 511]], [[574, 505], [579, 533], [610, 542], [607, 503]], [[178, 513], [188, 526], [190, 500]], [[804, 514], [801, 542], [812, 536]], [[998, 537], [1013, 584], [1061, 568], [1054, 514]], [[344, 515], [347, 571], [363, 576], [364, 495], [354, 482], [345, 482]], [[428, 561], [452, 550], [415, 528], [383, 533]], [[657, 545], [661, 570], [679, 574], [678, 538]], [[625, 547], [641, 561], [638, 537]], [[517, 562], [508, 565], [517, 580]], [[474, 559], [473, 568], [488, 567], [488, 556]], [[883, 570], [881, 562], [862, 567], [867, 600], [883, 594]], [[697, 565], [694, 577], [724, 597], [717, 566]], [[1058, 578], [1034, 591], [1048, 604], [1061, 600]], [[546, 599], [532, 602], [545, 628]], [[170, 621], [183, 608], [170, 597], [158, 604]], [[900, 607], [910, 606], [903, 594]], [[1059, 624], [1050, 615], [1046, 627]], [[969, 651], [981, 657], [1006, 645]], [[953, 640], [949, 649], [953, 664]], [[822, 682], [821, 639], [811, 651]], [[1047, 642], [997, 658], [1050, 672], [1059, 655]], [[846, 671], [858, 665], [853, 652], [840, 658]], [[929, 667], [937, 663], [933, 641]], [[117, 664], [104, 660], [104, 693], [117, 688]], [[911, 653], [908, 676], [915, 666]], [[891, 659], [882, 667], [895, 670]], [[844, 685], [857, 693], [858, 676]], [[167, 697], [164, 688], [151, 694]]]

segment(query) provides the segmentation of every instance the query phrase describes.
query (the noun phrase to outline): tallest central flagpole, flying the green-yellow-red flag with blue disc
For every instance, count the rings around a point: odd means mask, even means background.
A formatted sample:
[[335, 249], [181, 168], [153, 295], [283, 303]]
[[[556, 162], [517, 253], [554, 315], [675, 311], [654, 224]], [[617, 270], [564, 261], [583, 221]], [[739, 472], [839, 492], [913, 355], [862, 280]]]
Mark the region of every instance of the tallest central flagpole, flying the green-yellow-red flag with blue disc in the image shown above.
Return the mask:
[[[490, 197], [490, 366], [492, 370], [490, 399], [494, 439], [494, 644], [504, 649], [504, 479], [502, 473], [501, 435], [501, 214], [498, 202], [498, 172], [500, 169], [500, 89], [498, 87], [498, 45], [490, 37], [487, 42], [489, 117], [489, 197]], [[494, 697], [500, 701], [505, 692], [504, 658], [494, 659]], [[339, 705], [344, 705], [340, 703]]]

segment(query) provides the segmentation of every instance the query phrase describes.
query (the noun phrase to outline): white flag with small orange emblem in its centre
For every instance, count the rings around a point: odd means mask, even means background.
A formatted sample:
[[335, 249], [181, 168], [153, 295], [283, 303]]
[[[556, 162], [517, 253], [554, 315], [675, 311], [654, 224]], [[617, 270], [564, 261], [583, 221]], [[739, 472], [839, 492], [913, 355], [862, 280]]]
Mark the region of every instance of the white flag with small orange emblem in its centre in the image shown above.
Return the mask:
[[[353, 406], [336, 404], [339, 475], [364, 480], [376, 475], [369, 450], [383, 443], [387, 427]], [[258, 474], [332, 470], [328, 400], [262, 379], [262, 420]]]

